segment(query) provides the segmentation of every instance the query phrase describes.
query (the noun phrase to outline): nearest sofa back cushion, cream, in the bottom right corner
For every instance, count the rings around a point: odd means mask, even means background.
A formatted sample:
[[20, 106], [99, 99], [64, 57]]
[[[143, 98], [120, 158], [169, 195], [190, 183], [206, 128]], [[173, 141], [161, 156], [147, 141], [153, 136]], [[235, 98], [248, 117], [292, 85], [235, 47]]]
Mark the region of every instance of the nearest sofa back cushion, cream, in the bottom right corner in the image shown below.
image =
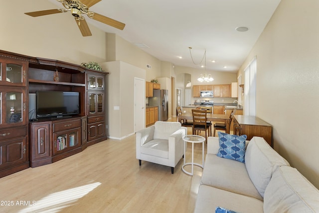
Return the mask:
[[319, 190], [297, 169], [280, 167], [266, 188], [264, 212], [318, 213]]

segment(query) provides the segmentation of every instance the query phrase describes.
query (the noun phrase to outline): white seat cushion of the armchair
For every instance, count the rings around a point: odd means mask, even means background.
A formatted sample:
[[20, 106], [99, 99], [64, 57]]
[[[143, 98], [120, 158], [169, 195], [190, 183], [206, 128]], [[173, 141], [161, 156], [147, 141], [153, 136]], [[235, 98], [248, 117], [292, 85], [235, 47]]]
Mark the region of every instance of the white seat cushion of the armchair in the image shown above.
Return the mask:
[[141, 147], [141, 153], [168, 158], [168, 140], [154, 139]]

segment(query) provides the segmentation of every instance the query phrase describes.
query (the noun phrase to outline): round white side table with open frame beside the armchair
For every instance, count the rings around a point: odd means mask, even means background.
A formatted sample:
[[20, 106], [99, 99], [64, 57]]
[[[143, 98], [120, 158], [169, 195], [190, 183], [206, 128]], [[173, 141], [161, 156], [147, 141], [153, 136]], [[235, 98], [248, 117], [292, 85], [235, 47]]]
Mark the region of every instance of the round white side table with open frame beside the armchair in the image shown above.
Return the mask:
[[[205, 138], [199, 135], [185, 135], [183, 136], [183, 141], [184, 141], [184, 164], [181, 167], [181, 170], [186, 173], [187, 175], [193, 175], [193, 171], [194, 171], [194, 165], [195, 166], [199, 166], [201, 168], [204, 168], [204, 145], [205, 145]], [[191, 162], [186, 163], [186, 143], [191, 143], [192, 147], [191, 147]], [[198, 164], [198, 163], [194, 163], [194, 143], [202, 143], [202, 164]], [[191, 173], [187, 172], [184, 169], [184, 166], [186, 165], [191, 165]]]

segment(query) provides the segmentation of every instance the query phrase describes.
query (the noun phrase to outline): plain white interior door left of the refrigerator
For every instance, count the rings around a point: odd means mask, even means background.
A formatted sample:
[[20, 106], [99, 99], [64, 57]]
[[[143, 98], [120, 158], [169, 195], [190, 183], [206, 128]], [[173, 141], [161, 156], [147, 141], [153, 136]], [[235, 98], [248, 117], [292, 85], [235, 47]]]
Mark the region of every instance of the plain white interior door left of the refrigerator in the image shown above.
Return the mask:
[[134, 131], [145, 128], [145, 79], [134, 78]]

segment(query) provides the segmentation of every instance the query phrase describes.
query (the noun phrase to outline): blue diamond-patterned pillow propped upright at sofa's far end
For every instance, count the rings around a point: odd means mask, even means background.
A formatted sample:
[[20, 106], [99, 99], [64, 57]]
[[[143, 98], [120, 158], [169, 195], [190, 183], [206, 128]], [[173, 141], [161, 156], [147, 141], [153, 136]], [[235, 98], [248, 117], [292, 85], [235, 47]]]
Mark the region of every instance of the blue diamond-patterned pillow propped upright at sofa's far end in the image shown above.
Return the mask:
[[229, 135], [218, 132], [219, 151], [218, 157], [233, 159], [245, 163], [245, 141], [247, 135]]

